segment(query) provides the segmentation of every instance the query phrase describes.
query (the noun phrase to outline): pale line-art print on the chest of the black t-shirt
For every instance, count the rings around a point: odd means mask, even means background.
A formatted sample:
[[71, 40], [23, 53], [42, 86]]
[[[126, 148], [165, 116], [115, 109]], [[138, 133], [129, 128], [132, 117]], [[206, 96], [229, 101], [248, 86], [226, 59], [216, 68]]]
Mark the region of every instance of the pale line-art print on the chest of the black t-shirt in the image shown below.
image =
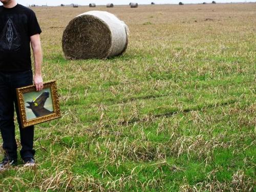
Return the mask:
[[17, 51], [20, 48], [20, 37], [12, 22], [9, 18], [0, 35], [0, 50], [1, 51]]

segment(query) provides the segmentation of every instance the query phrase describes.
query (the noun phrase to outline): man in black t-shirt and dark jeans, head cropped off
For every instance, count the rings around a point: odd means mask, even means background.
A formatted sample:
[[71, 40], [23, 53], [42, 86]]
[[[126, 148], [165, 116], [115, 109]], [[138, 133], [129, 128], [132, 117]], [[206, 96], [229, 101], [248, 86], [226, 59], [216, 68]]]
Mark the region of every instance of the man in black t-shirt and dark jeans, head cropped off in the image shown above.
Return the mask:
[[17, 144], [14, 127], [14, 105], [19, 123], [20, 156], [25, 166], [33, 166], [34, 127], [21, 127], [17, 107], [16, 88], [33, 84], [30, 43], [34, 56], [34, 84], [43, 89], [41, 76], [41, 29], [35, 13], [16, 0], [0, 0], [0, 130], [3, 138], [4, 159], [0, 170], [17, 162]]

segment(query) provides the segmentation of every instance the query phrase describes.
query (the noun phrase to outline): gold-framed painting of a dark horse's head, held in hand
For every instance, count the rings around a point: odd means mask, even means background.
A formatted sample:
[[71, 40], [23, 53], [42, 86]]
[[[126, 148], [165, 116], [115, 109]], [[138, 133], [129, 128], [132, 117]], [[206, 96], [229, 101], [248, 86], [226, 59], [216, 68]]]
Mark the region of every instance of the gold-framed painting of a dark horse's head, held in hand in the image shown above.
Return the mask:
[[22, 127], [50, 121], [60, 117], [56, 81], [44, 82], [44, 89], [35, 86], [16, 89], [18, 110]]

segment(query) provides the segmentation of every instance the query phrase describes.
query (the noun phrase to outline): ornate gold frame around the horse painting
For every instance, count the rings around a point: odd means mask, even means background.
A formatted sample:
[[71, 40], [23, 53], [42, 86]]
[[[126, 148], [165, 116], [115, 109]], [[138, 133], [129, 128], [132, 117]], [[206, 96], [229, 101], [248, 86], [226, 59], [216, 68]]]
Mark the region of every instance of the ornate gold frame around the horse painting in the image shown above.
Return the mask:
[[37, 117], [30, 120], [27, 120], [26, 118], [25, 101], [24, 101], [23, 94], [35, 92], [36, 88], [33, 85], [33, 86], [27, 86], [27, 87], [16, 89], [20, 122], [22, 123], [23, 128], [34, 125], [34, 124], [50, 121], [60, 117], [59, 99], [58, 99], [56, 81], [52, 80], [52, 81], [44, 82], [44, 89], [47, 89], [47, 88], [51, 88], [54, 112], [52, 114], [45, 115], [42, 117]]

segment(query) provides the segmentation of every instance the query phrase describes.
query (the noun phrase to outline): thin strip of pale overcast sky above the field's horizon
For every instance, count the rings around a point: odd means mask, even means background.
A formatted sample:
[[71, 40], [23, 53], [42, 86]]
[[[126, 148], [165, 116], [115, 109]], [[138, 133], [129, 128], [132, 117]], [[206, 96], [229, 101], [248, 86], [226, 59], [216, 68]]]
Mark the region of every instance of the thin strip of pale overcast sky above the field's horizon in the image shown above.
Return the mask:
[[[89, 5], [90, 3], [96, 3], [96, 5], [106, 5], [107, 3], [113, 3], [114, 5], [127, 5], [130, 2], [136, 2], [138, 4], [151, 4], [154, 2], [156, 4], [178, 4], [179, 2], [186, 3], [211, 3], [214, 0], [17, 0], [18, 4], [22, 4], [24, 6], [28, 5], [48, 5], [48, 6], [56, 6], [60, 4], [79, 4], [79, 5]], [[215, 0], [217, 3], [237, 3], [237, 2], [256, 2], [256, 0]], [[0, 3], [0, 5], [2, 5]]]

